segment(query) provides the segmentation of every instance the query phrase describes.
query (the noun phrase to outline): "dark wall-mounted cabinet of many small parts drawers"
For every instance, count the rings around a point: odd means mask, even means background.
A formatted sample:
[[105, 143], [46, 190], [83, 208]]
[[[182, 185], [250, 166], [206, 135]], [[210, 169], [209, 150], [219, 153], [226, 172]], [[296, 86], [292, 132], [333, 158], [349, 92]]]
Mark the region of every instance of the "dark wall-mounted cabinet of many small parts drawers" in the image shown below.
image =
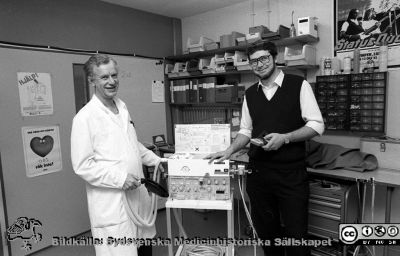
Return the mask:
[[384, 133], [387, 72], [317, 76], [327, 130]]

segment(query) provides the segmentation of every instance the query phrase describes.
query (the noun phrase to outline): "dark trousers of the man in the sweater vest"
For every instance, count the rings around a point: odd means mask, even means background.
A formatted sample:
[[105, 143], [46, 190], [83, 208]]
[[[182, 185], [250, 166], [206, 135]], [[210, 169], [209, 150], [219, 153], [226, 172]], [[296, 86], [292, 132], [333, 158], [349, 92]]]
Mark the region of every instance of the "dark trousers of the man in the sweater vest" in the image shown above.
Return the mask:
[[[284, 240], [306, 239], [309, 183], [306, 168], [258, 168], [247, 177], [251, 217], [266, 256], [309, 256], [310, 248], [280, 246]], [[286, 251], [286, 254], [285, 254]]]

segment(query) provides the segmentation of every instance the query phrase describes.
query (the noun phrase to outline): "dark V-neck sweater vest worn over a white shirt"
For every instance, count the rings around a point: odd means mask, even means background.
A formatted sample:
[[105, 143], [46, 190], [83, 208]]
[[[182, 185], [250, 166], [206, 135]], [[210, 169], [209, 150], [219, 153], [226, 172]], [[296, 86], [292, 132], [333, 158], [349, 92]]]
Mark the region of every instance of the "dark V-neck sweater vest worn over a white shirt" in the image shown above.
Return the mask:
[[[253, 123], [252, 138], [265, 133], [288, 133], [305, 125], [301, 117], [300, 90], [303, 78], [285, 74], [271, 100], [268, 100], [258, 83], [246, 90], [246, 102]], [[305, 143], [290, 142], [278, 150], [265, 151], [250, 146], [250, 164], [256, 168], [298, 169], [305, 167]]]

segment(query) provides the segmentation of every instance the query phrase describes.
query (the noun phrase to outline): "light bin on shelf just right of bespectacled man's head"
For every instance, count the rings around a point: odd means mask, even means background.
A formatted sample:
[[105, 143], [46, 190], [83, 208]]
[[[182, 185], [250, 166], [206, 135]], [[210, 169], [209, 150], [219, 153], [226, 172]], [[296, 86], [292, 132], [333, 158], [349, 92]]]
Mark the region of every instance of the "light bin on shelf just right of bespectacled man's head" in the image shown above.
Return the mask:
[[316, 65], [316, 49], [312, 45], [285, 47], [284, 60], [287, 66]]

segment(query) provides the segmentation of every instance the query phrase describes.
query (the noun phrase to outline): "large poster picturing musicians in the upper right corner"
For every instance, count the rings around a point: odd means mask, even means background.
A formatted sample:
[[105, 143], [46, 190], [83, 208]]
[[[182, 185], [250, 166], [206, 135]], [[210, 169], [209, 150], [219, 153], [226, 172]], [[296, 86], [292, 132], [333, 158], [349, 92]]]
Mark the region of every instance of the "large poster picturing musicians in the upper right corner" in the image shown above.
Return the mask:
[[[360, 49], [360, 66], [379, 66], [379, 47], [388, 46], [388, 67], [400, 67], [400, 0], [336, 0], [335, 55], [343, 63]], [[370, 61], [371, 63], [371, 61]]]

